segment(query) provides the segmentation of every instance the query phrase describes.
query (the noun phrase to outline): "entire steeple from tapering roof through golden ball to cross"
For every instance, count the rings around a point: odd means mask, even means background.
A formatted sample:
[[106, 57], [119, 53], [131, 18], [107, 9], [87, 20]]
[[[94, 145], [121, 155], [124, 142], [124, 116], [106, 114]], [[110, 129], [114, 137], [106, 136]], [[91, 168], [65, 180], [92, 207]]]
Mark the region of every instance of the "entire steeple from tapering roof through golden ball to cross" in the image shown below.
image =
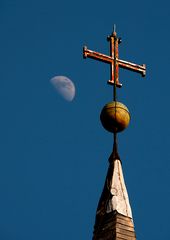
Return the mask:
[[118, 77], [119, 67], [141, 73], [142, 76], [145, 76], [146, 67], [119, 59], [118, 44], [121, 39], [117, 37], [115, 26], [108, 41], [110, 41], [110, 56], [94, 52], [87, 47], [83, 48], [84, 58], [90, 57], [110, 64], [108, 83], [113, 86], [113, 101], [104, 106], [100, 115], [103, 127], [113, 133], [114, 143], [104, 189], [97, 207], [93, 240], [136, 240], [117, 143], [117, 134], [129, 125], [130, 113], [123, 103], [117, 101], [116, 89], [122, 87]]

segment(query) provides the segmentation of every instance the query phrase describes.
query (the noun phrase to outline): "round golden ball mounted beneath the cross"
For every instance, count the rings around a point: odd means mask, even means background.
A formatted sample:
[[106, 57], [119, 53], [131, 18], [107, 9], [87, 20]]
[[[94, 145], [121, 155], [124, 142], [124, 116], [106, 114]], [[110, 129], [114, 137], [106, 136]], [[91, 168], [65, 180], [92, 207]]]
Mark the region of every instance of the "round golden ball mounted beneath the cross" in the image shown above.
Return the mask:
[[102, 109], [100, 120], [107, 131], [121, 132], [129, 125], [130, 113], [123, 103], [110, 102]]

